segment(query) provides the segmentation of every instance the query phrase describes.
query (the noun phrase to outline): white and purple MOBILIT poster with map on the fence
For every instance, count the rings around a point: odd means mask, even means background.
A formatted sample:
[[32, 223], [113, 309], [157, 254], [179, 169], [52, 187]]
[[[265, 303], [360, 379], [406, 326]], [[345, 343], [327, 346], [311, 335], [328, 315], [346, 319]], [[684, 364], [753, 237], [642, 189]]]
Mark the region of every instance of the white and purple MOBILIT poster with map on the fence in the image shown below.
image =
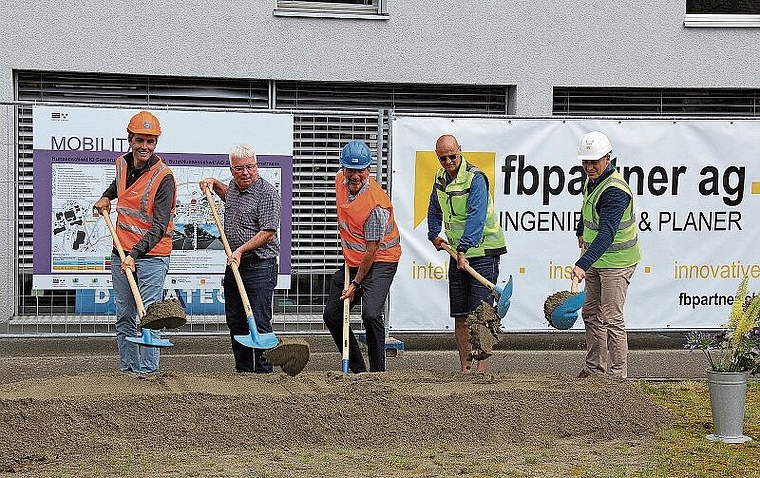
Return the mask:
[[[35, 106], [35, 289], [109, 289], [113, 241], [93, 204], [114, 180], [115, 158], [129, 150], [126, 125], [137, 109]], [[261, 177], [282, 198], [278, 288], [290, 287], [293, 116], [273, 113], [153, 111], [156, 146], [177, 183], [167, 289], [219, 289], [226, 254], [198, 182], [232, 179], [228, 152], [257, 152]], [[116, 220], [116, 208], [111, 208]]]

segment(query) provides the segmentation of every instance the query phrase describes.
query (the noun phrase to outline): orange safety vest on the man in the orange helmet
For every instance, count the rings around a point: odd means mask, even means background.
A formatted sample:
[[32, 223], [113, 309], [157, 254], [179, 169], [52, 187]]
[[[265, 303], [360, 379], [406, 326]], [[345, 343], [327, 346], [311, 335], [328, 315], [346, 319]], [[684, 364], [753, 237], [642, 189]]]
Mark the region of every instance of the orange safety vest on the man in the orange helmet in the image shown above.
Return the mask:
[[[159, 156], [158, 162], [145, 171], [130, 187], [127, 187], [127, 160], [124, 156], [116, 158], [116, 235], [125, 251], [130, 251], [153, 226], [153, 205], [156, 191], [167, 174], [172, 174]], [[164, 237], [147, 251], [152, 256], [168, 256], [172, 252], [172, 231], [174, 231], [174, 209], [177, 204], [177, 191], [174, 191], [169, 225]]]

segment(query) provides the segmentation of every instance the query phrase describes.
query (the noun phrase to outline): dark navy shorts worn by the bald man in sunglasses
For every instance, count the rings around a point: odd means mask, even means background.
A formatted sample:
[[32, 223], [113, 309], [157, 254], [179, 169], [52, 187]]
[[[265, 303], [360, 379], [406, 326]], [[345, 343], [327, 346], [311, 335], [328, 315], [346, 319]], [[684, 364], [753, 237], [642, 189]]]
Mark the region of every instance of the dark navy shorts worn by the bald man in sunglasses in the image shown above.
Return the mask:
[[[467, 262], [480, 275], [496, 283], [499, 280], [500, 256], [468, 258]], [[465, 317], [480, 305], [480, 301], [493, 304], [491, 290], [478, 282], [469, 272], [457, 269], [453, 257], [449, 261], [449, 307], [452, 317]]]

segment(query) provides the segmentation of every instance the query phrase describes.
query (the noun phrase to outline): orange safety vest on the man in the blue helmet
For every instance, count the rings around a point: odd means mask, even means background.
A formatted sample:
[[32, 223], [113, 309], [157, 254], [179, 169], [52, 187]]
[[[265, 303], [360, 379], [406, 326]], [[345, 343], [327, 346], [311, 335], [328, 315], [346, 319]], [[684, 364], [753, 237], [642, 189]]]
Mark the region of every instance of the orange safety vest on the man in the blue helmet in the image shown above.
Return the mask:
[[398, 262], [401, 258], [401, 235], [396, 226], [391, 199], [377, 181], [369, 178], [369, 189], [348, 202], [348, 188], [343, 184], [344, 179], [341, 170], [335, 176], [335, 202], [338, 206], [338, 229], [346, 263], [350, 267], [358, 267], [367, 252], [364, 223], [377, 206], [390, 211], [390, 217], [375, 262]]

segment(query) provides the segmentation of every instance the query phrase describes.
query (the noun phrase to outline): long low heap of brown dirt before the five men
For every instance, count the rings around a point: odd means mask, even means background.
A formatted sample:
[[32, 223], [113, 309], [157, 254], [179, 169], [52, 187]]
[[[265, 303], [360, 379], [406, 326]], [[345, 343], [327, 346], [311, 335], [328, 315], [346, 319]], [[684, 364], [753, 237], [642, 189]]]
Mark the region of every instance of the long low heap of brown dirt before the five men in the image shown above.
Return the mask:
[[671, 420], [603, 377], [88, 372], [0, 384], [0, 475], [606, 476]]

